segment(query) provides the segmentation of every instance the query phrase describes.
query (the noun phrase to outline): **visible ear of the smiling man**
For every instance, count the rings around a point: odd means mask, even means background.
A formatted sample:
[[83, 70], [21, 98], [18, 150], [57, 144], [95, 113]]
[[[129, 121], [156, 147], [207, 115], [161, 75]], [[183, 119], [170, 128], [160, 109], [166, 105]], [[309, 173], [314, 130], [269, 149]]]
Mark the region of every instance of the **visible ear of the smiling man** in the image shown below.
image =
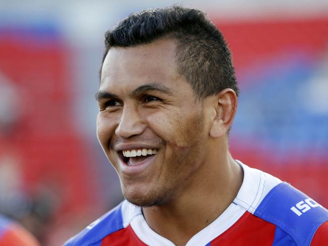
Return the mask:
[[237, 111], [237, 95], [233, 89], [227, 88], [215, 95], [216, 116], [213, 119], [209, 135], [220, 138], [225, 135], [234, 120]]

